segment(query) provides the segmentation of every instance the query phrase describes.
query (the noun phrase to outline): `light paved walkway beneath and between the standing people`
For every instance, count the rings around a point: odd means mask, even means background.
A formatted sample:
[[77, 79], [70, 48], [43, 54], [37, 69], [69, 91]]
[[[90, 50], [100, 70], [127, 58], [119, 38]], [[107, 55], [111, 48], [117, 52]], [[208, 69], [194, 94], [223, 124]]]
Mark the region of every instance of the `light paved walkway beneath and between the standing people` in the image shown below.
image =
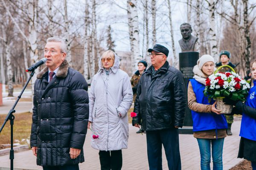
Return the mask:
[[[239, 148], [239, 130], [241, 118], [235, 118], [232, 125], [232, 136], [227, 136], [224, 141], [223, 164], [224, 170], [229, 170], [243, 159], [237, 158]], [[129, 125], [128, 149], [122, 150], [122, 170], [148, 170], [146, 135], [136, 134], [138, 130]], [[98, 151], [90, 147], [90, 130], [84, 144], [85, 162], [79, 164], [80, 170], [100, 170]], [[180, 155], [182, 170], [200, 170], [200, 153], [196, 139], [193, 135], [180, 135]], [[0, 156], [0, 167], [10, 167], [9, 155]], [[36, 157], [31, 150], [15, 153], [14, 167], [23, 170], [42, 170], [36, 165]], [[211, 163], [212, 167], [212, 163]], [[1, 170], [1, 168], [0, 168]], [[163, 150], [163, 170], [168, 170], [166, 157]]]

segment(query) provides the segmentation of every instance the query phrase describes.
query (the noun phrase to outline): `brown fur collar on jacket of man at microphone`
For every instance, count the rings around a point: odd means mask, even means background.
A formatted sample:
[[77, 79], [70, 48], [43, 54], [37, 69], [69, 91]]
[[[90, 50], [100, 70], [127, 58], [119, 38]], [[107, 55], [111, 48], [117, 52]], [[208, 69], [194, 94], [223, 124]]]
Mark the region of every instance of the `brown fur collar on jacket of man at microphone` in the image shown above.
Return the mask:
[[[58, 72], [56, 73], [57, 77], [65, 78], [67, 76], [68, 68], [70, 67], [70, 64], [67, 60], [64, 60], [61, 65], [59, 66]], [[45, 73], [48, 72], [48, 67], [44, 67], [44, 69], [41, 70], [41, 72], [38, 73], [36, 78], [41, 79]]]

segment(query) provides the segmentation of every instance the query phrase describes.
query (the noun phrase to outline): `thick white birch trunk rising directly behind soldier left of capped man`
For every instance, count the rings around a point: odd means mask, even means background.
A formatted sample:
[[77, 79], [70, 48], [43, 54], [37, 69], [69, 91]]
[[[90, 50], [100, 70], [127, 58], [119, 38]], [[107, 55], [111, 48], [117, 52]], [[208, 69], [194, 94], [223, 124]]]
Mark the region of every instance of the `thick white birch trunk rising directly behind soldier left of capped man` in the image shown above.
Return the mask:
[[137, 70], [137, 63], [140, 61], [140, 38], [139, 38], [139, 21], [138, 21], [138, 12], [137, 12], [137, 1], [130, 0], [129, 3], [131, 7], [131, 19], [132, 19], [132, 30], [133, 30], [133, 39], [132, 44], [134, 48], [132, 53], [134, 55], [134, 64], [133, 64], [133, 71]]

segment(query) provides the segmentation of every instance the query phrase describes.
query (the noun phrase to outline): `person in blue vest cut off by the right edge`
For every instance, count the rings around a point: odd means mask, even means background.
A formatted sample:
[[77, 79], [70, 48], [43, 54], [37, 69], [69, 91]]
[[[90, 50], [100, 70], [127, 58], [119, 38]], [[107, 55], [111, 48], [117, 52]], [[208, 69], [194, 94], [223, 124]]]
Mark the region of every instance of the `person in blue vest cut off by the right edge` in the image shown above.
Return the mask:
[[234, 113], [242, 112], [238, 158], [251, 161], [253, 170], [256, 170], [256, 60], [251, 64], [253, 87], [247, 95], [245, 103], [225, 98], [226, 104], [234, 105]]

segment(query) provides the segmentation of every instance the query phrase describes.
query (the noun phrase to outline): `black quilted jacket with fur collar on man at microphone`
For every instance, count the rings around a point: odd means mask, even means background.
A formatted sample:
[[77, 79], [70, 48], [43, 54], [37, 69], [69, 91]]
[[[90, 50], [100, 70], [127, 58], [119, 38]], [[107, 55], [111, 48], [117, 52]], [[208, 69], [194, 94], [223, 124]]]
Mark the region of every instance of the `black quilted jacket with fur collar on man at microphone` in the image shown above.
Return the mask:
[[[31, 147], [38, 147], [37, 164], [63, 166], [83, 162], [89, 117], [84, 77], [64, 60], [50, 83], [48, 67], [37, 78], [30, 137]], [[76, 159], [70, 158], [70, 147], [81, 149]]]

